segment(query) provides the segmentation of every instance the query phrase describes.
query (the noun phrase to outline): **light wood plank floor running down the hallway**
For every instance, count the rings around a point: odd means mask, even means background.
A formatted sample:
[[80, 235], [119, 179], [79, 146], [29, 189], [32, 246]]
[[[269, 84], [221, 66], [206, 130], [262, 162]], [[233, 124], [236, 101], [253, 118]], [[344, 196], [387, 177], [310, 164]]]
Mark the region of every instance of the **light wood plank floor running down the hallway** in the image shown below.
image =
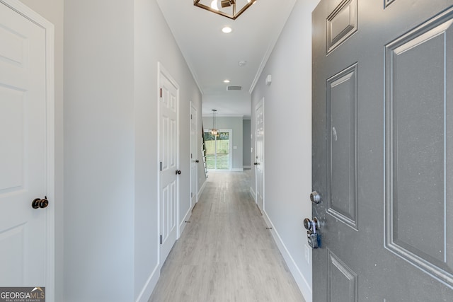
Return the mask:
[[149, 302], [304, 302], [249, 193], [249, 177], [209, 173]]

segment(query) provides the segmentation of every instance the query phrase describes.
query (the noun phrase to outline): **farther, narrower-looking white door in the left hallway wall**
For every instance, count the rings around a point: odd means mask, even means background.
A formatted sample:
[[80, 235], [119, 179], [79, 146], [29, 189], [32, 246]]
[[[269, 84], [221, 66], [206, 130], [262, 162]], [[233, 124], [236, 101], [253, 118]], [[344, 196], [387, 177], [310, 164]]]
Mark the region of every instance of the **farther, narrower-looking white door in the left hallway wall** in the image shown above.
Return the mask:
[[190, 106], [190, 207], [197, 203], [198, 192], [198, 117], [197, 109]]

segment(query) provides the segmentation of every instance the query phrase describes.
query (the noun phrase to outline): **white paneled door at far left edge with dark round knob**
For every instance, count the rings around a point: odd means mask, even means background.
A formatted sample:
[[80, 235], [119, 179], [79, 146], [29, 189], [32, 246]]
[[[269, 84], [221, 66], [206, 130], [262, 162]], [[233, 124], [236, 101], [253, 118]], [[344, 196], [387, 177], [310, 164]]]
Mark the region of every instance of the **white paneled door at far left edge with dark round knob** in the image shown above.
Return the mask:
[[53, 205], [34, 209], [32, 201], [53, 197], [53, 84], [46, 75], [53, 27], [26, 16], [39, 17], [0, 1], [0, 286], [52, 293]]

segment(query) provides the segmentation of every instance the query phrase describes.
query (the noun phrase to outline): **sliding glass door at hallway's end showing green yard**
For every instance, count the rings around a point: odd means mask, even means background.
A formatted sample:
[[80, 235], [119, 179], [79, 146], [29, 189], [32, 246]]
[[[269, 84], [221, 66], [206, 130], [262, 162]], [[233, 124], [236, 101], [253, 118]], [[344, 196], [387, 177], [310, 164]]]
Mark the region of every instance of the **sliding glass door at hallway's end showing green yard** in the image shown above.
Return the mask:
[[232, 129], [219, 129], [213, 135], [205, 129], [206, 168], [208, 170], [231, 170]]

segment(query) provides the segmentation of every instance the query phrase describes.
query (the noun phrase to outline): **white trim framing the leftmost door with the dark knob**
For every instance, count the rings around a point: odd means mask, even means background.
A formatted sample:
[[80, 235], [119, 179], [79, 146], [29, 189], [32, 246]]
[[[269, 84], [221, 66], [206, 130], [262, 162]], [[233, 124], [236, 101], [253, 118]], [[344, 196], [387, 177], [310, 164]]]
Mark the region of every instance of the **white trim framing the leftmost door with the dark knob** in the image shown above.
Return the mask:
[[35, 11], [17, 0], [0, 0], [13, 11], [39, 25], [45, 30], [45, 73], [46, 73], [46, 195], [49, 207], [46, 209], [46, 260], [45, 288], [46, 301], [55, 302], [55, 27]]

